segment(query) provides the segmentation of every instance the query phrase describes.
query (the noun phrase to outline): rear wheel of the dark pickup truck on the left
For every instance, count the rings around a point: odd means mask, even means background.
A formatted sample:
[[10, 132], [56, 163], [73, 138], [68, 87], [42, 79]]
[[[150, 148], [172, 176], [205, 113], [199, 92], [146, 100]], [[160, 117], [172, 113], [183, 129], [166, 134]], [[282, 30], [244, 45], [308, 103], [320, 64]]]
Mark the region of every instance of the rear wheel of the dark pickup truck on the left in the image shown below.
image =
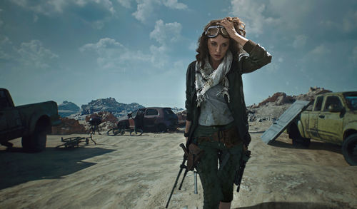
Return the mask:
[[46, 148], [46, 127], [36, 126], [31, 136], [23, 136], [21, 143], [25, 151], [31, 153], [44, 151]]

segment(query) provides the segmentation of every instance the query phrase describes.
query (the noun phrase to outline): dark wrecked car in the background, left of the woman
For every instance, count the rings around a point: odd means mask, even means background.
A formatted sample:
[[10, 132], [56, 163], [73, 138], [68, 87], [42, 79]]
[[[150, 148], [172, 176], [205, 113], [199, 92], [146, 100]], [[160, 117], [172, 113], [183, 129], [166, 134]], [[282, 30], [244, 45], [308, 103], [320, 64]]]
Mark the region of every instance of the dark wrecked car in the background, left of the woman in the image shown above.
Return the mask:
[[118, 122], [119, 128], [134, 129], [134, 126], [145, 132], [174, 131], [178, 126], [178, 118], [171, 108], [140, 108]]

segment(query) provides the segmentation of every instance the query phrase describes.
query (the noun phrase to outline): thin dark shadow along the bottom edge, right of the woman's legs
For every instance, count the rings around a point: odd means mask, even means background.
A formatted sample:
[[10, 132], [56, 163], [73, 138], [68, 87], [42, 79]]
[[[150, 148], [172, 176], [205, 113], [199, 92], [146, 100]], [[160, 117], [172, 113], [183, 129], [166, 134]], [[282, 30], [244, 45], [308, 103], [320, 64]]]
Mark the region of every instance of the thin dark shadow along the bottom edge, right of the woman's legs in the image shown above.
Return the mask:
[[241, 207], [235, 209], [337, 209], [337, 208], [351, 208], [346, 204], [338, 204], [338, 207], [333, 207], [331, 205], [326, 205], [323, 203], [294, 203], [294, 202], [269, 202], [269, 203], [259, 203], [258, 205], [252, 205], [248, 207]]

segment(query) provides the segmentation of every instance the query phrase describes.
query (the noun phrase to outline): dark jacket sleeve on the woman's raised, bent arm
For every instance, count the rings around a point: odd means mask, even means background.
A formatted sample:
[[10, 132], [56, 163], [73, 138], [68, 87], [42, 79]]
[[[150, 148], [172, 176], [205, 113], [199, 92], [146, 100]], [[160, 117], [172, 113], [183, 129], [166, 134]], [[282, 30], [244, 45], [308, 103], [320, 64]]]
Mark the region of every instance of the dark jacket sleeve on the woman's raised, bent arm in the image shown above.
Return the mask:
[[244, 44], [243, 49], [249, 56], [246, 54], [239, 56], [239, 61], [242, 63], [242, 73], [251, 73], [271, 62], [271, 54], [251, 40]]

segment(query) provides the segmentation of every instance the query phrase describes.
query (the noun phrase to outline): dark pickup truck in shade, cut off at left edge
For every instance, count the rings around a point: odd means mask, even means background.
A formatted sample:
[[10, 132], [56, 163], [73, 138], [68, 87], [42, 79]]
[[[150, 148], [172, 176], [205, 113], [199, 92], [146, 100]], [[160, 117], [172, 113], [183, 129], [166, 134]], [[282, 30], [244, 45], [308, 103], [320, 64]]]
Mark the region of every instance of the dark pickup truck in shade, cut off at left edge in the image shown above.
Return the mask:
[[26, 151], [39, 152], [46, 148], [46, 134], [51, 126], [59, 125], [57, 103], [46, 101], [14, 106], [9, 91], [0, 88], [0, 143], [11, 147], [12, 139], [22, 137]]

